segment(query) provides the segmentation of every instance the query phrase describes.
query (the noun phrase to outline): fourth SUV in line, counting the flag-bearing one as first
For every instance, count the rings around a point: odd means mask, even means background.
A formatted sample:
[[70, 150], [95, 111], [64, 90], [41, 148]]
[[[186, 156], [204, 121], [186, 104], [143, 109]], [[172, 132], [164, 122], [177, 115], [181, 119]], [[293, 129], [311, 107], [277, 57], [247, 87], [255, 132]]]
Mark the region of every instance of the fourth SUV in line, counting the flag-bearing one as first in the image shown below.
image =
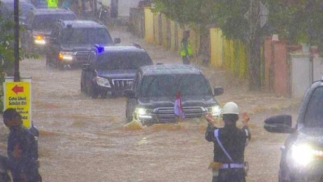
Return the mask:
[[77, 18], [68, 8], [32, 8], [23, 22], [26, 31], [22, 34], [21, 46], [29, 52], [45, 51], [53, 24], [58, 19], [75, 20]]

